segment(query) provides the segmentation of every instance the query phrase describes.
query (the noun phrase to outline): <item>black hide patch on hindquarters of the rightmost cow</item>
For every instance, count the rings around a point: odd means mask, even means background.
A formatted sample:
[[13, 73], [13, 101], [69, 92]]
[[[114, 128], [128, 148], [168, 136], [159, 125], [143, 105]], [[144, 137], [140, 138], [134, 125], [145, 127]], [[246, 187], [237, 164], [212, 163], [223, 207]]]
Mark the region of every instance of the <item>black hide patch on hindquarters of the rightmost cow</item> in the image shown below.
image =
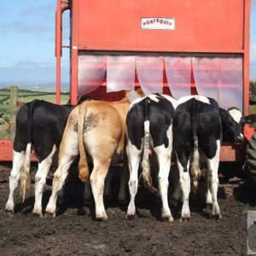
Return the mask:
[[198, 147], [207, 158], [212, 159], [217, 150], [217, 140], [221, 140], [221, 121], [218, 103], [209, 99], [210, 104], [190, 99], [178, 105], [173, 114], [173, 143], [178, 159], [187, 170], [186, 163], [194, 148], [194, 138], [197, 137]]

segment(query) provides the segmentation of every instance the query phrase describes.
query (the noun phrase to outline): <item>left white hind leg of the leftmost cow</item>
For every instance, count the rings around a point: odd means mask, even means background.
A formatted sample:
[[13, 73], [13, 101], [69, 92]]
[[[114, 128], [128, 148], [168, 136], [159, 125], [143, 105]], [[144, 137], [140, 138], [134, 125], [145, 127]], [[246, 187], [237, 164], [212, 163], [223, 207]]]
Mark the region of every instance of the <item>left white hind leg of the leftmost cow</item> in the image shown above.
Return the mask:
[[9, 176], [9, 198], [5, 206], [5, 211], [14, 214], [15, 212], [15, 189], [18, 187], [20, 180], [20, 171], [23, 168], [25, 160], [25, 151], [14, 151], [13, 168]]

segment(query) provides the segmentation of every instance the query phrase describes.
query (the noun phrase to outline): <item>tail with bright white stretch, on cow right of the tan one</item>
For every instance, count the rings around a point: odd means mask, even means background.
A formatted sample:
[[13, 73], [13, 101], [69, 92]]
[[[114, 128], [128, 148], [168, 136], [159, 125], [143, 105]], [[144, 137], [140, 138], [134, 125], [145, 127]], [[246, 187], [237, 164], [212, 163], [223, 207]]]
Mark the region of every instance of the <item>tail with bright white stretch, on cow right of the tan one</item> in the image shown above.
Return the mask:
[[149, 163], [149, 143], [150, 143], [150, 133], [149, 133], [149, 106], [148, 106], [148, 99], [145, 100], [145, 105], [143, 108], [143, 121], [144, 121], [144, 143], [143, 143], [143, 183], [150, 191], [156, 191], [152, 184], [152, 177], [150, 171], [150, 163]]

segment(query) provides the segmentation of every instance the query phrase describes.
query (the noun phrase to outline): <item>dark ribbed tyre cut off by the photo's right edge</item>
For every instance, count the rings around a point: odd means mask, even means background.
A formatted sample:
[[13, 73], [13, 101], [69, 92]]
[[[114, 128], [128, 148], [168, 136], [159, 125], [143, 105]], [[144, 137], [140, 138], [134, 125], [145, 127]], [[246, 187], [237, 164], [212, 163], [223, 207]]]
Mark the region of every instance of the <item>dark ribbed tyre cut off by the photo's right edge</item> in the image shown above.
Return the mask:
[[247, 143], [244, 170], [247, 175], [247, 182], [256, 186], [256, 132]]

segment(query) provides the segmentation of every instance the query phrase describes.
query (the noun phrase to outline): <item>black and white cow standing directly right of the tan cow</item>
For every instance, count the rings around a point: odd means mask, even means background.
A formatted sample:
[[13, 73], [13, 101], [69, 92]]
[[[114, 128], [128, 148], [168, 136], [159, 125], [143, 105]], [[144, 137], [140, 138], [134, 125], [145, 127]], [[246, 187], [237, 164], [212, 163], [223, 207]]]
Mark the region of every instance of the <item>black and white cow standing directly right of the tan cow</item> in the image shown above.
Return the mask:
[[172, 114], [176, 100], [166, 95], [150, 95], [132, 102], [126, 117], [126, 153], [130, 169], [129, 190], [131, 200], [125, 218], [134, 218], [135, 196], [138, 185], [138, 167], [142, 160], [143, 181], [155, 190], [150, 175], [149, 151], [153, 151], [159, 166], [158, 184], [162, 201], [161, 217], [172, 222], [168, 206], [168, 176], [172, 155]]

